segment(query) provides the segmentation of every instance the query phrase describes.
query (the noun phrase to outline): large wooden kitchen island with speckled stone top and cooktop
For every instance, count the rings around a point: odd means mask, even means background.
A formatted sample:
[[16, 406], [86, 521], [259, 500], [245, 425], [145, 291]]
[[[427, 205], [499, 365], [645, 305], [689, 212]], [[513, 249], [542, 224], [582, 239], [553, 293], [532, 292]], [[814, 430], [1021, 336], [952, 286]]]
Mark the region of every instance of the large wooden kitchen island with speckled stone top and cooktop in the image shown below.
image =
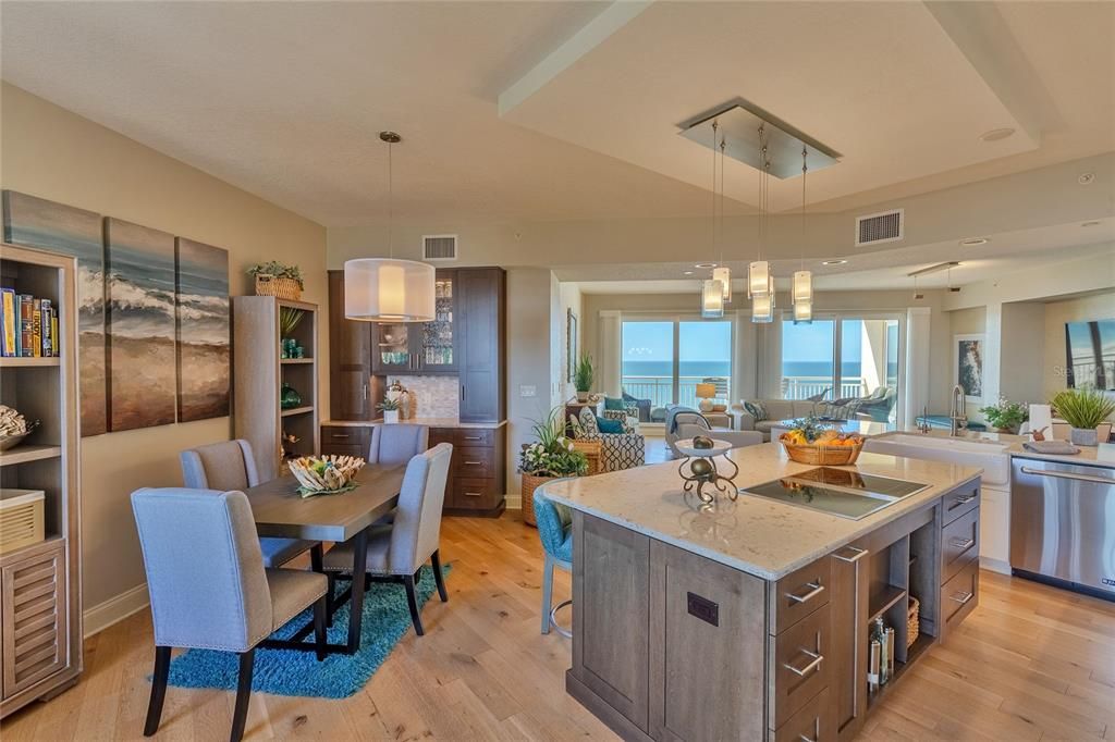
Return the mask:
[[[816, 469], [776, 443], [728, 456], [745, 490]], [[825, 498], [808, 488], [702, 506], [677, 462], [547, 485], [573, 509], [566, 690], [624, 739], [851, 739], [978, 603], [979, 475], [861, 455], [825, 475], [837, 489], [872, 476], [918, 487], [860, 519], [813, 509]], [[895, 662], [869, 689], [876, 618]]]

